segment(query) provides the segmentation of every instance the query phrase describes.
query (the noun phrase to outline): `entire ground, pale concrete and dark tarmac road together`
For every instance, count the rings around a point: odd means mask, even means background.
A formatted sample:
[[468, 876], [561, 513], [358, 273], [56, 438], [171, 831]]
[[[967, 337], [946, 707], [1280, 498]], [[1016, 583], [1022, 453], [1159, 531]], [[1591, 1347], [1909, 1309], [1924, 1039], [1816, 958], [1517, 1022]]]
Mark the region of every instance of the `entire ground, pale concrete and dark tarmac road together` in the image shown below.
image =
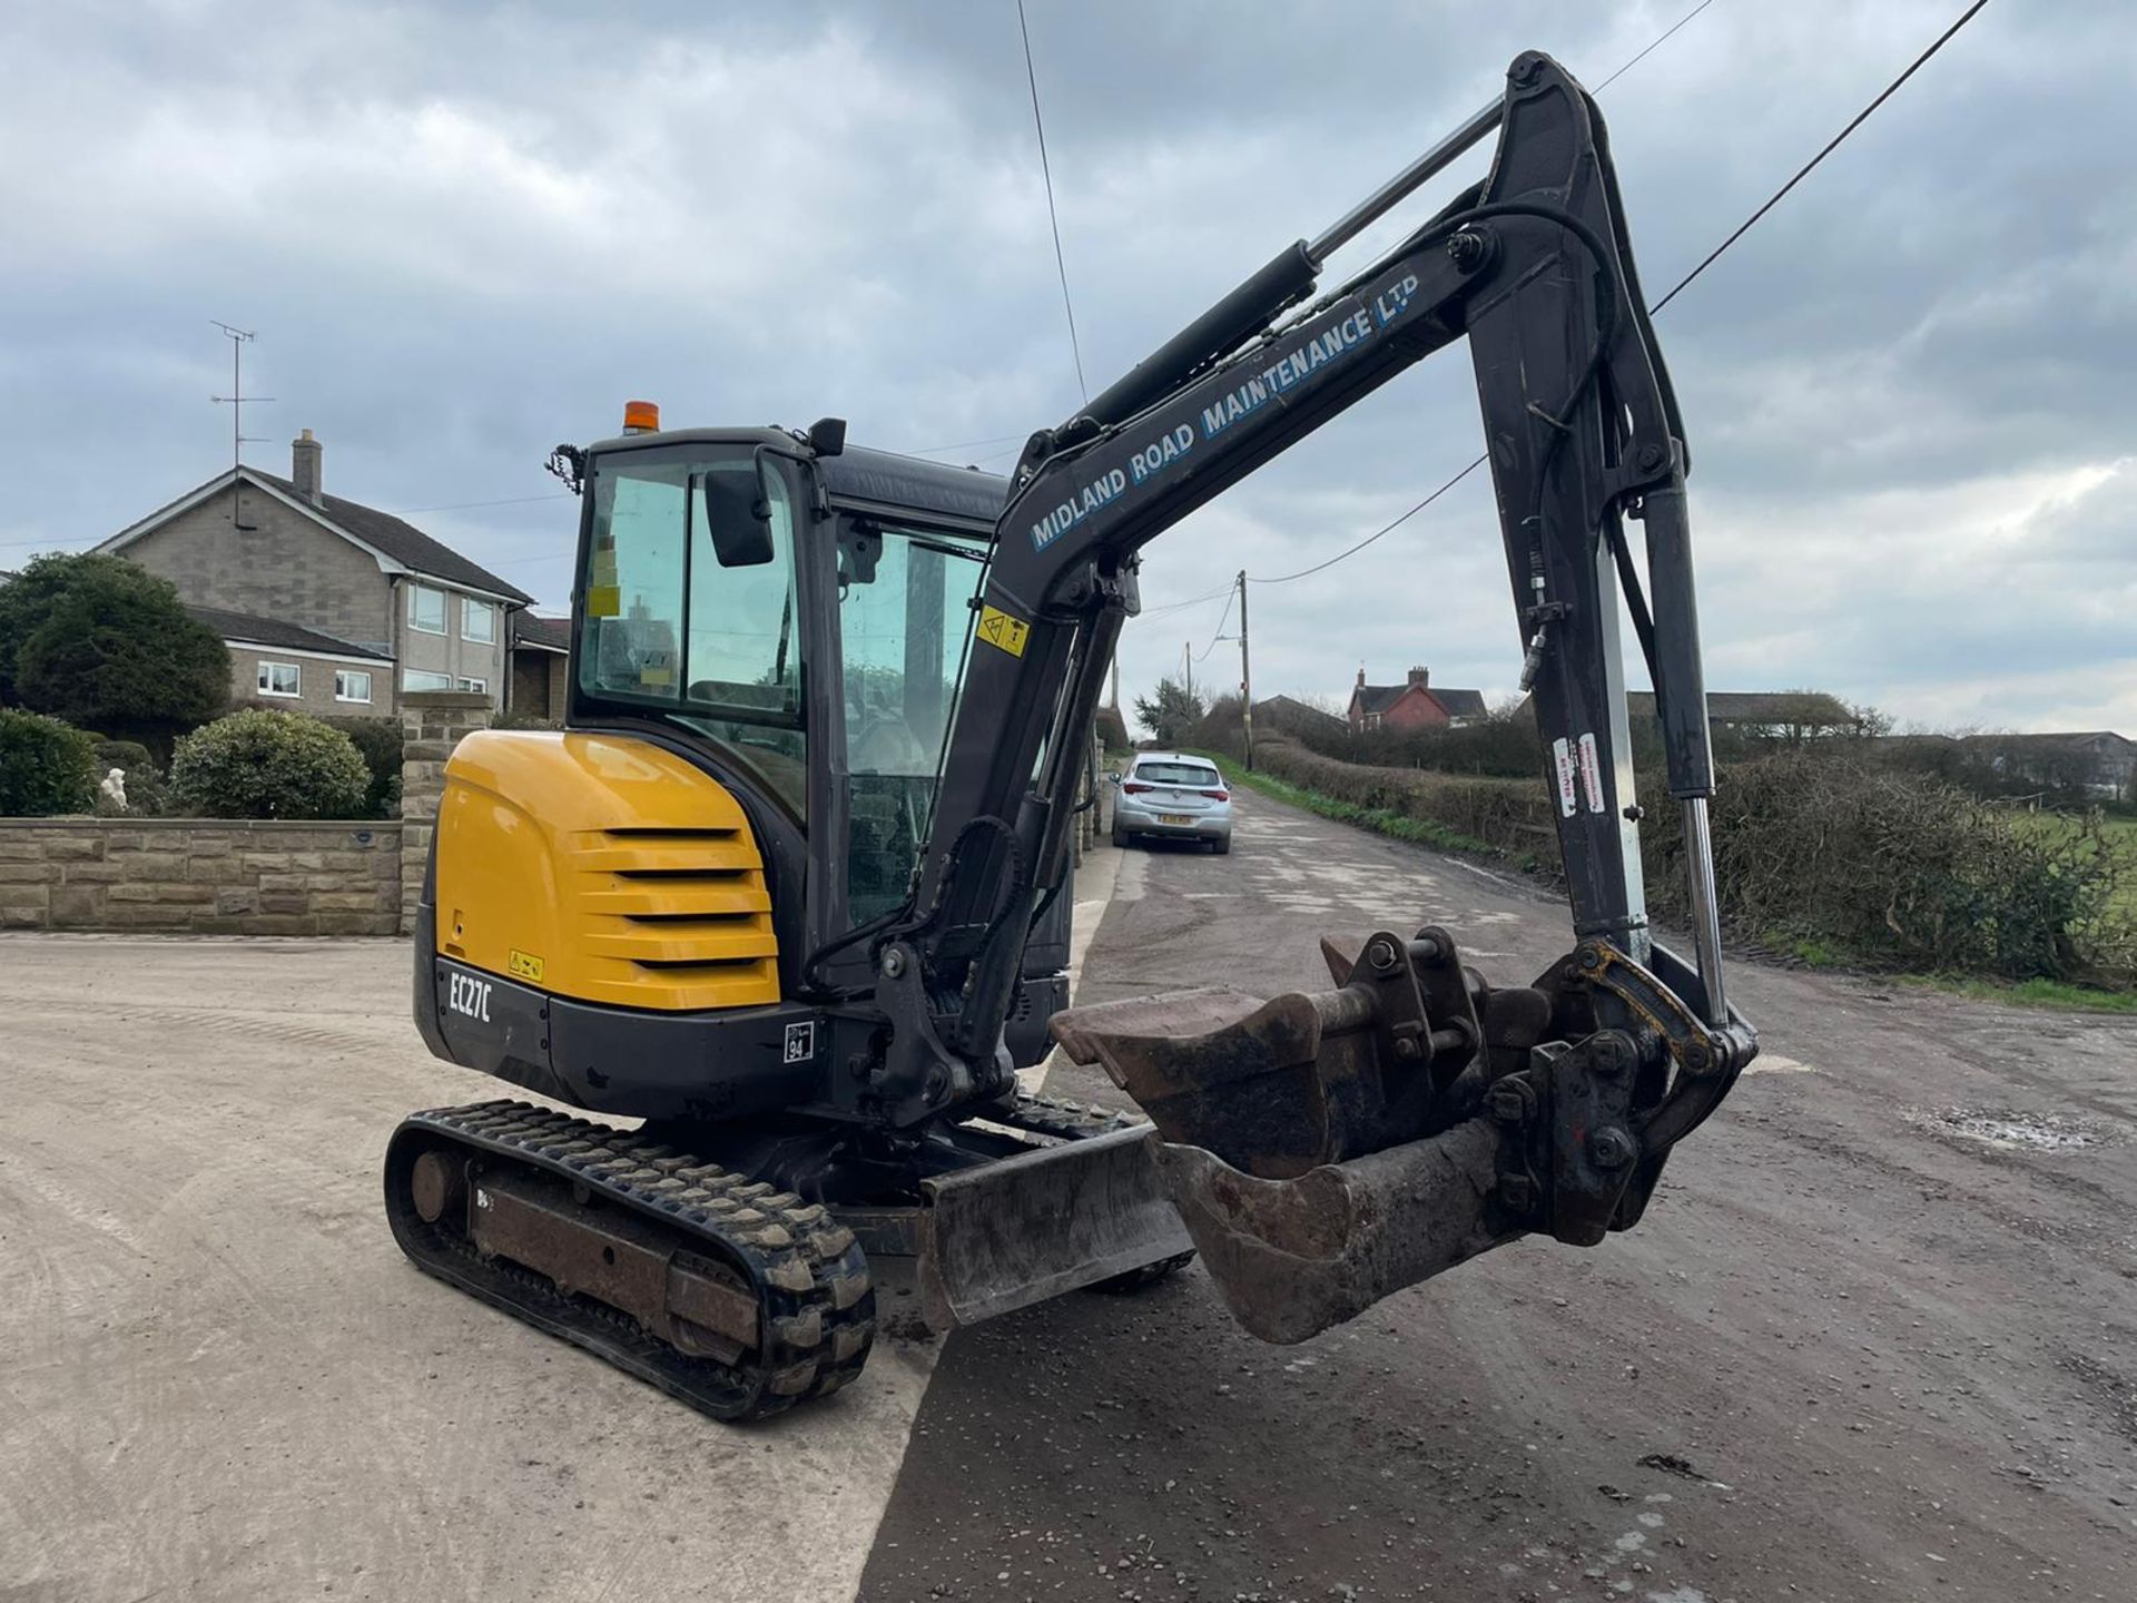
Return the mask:
[[[1088, 1000], [1314, 987], [1323, 930], [1564, 947], [1252, 795], [1231, 857], [1092, 868]], [[6, 1603], [2137, 1594], [2137, 1024], [1740, 964], [1765, 1073], [1633, 1235], [1297, 1349], [1199, 1272], [1066, 1297], [724, 1430], [400, 1259], [395, 1118], [498, 1092], [406, 962], [0, 938]]]

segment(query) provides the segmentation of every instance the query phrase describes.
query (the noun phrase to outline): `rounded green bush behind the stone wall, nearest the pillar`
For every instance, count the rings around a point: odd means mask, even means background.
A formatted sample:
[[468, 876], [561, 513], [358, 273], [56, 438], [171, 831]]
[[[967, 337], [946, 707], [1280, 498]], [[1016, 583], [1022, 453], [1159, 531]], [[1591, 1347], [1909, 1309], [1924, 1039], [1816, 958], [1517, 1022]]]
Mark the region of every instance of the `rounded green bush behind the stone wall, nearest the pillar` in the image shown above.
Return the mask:
[[355, 742], [301, 712], [233, 712], [171, 757], [173, 799], [203, 819], [359, 819], [370, 784]]

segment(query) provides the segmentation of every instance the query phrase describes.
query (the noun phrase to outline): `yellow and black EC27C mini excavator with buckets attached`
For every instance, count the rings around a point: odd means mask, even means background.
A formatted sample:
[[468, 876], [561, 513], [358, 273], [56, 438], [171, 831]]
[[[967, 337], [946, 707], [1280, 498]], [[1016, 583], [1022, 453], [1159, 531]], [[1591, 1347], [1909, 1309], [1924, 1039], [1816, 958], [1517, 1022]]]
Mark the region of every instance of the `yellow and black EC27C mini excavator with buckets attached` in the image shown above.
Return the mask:
[[[1481, 184], [1319, 291], [1494, 130]], [[1464, 336], [1571, 951], [1494, 985], [1425, 923], [1323, 940], [1321, 994], [1068, 1009], [1077, 780], [1137, 554]], [[624, 421], [551, 457], [581, 494], [564, 727], [470, 735], [447, 769], [417, 1026], [545, 1101], [395, 1131], [387, 1214], [425, 1272], [720, 1419], [851, 1383], [885, 1257], [951, 1327], [1199, 1252], [1252, 1334], [1297, 1342], [1522, 1235], [1631, 1229], [1752, 1060], [1722, 996], [1684, 425], [1603, 118], [1547, 56], [1007, 479], [848, 447], [838, 419]], [[1620, 603], [1688, 960], [1645, 915]], [[1026, 1094], [1049, 1037], [1148, 1118]]]

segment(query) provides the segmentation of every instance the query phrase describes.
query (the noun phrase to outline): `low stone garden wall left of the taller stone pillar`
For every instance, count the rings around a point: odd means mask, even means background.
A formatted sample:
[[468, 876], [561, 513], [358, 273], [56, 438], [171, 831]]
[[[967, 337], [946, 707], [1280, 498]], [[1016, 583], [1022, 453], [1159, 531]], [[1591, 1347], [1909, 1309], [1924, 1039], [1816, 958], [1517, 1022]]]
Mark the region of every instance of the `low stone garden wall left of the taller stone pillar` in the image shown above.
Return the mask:
[[393, 934], [402, 825], [0, 819], [0, 928]]

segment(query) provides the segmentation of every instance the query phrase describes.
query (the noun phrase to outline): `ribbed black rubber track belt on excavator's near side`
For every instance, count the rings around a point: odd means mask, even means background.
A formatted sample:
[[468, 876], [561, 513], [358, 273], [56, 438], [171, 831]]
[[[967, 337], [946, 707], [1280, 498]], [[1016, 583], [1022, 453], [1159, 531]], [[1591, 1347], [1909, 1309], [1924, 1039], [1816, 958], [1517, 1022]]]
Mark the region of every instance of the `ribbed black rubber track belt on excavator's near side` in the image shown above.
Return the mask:
[[[637, 1319], [560, 1293], [547, 1276], [506, 1259], [485, 1261], [459, 1231], [425, 1225], [408, 1171], [417, 1154], [440, 1146], [564, 1176], [671, 1231], [680, 1248], [737, 1270], [763, 1308], [759, 1351], [735, 1366], [690, 1357]], [[521, 1101], [410, 1114], [387, 1146], [385, 1184], [393, 1238], [417, 1267], [714, 1419], [784, 1413], [838, 1391], [868, 1361], [876, 1293], [868, 1259], [831, 1210], [671, 1146], [637, 1141], [630, 1131]]]

